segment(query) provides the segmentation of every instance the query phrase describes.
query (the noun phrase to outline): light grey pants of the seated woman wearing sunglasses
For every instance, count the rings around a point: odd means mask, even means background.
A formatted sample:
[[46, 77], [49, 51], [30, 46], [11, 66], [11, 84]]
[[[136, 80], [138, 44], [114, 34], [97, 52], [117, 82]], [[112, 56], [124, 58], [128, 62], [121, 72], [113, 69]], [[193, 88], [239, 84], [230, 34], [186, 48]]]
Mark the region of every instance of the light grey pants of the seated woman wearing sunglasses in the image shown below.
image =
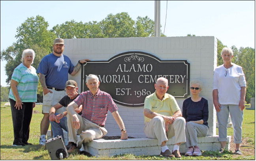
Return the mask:
[[208, 133], [208, 127], [203, 124], [196, 124], [194, 122], [186, 123], [186, 147], [197, 146], [198, 137], [205, 137]]

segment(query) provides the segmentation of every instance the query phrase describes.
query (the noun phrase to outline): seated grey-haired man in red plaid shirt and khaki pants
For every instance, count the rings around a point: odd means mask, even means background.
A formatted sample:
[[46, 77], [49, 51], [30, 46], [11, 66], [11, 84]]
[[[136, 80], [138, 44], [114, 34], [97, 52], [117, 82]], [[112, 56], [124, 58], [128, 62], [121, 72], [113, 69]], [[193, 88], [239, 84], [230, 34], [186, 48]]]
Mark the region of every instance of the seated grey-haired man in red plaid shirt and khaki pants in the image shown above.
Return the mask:
[[[96, 75], [88, 75], [86, 85], [89, 91], [82, 92], [68, 107], [68, 152], [80, 149], [83, 143], [94, 139], [100, 139], [107, 134], [105, 122], [109, 110], [121, 130], [121, 139], [127, 139], [126, 129], [119, 113], [117, 105], [110, 94], [99, 89], [100, 81]], [[75, 109], [83, 105], [82, 115], [78, 115]], [[80, 135], [77, 140], [77, 134]]]

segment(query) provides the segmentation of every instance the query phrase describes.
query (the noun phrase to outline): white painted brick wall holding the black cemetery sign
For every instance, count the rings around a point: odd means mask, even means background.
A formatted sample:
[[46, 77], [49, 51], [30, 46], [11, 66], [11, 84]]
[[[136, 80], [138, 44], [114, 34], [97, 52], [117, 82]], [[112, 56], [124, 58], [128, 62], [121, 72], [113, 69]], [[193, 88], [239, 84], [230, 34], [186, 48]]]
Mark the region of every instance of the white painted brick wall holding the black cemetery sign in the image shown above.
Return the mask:
[[[109, 60], [126, 51], [143, 51], [161, 60], [187, 60], [190, 63], [190, 80], [199, 79], [203, 83], [201, 96], [209, 103], [209, 133], [216, 135], [216, 112], [213, 108], [212, 84], [213, 70], [216, 67], [217, 40], [213, 36], [192, 37], [130, 37], [130, 38], [94, 38], [65, 39], [64, 54], [73, 64], [78, 60]], [[69, 79], [77, 81], [81, 88], [81, 70]], [[176, 99], [182, 109], [184, 99]], [[128, 136], [145, 137], [143, 133], [143, 107], [124, 107], [118, 105], [119, 114], [126, 125]], [[120, 135], [120, 129], [109, 113], [106, 128], [108, 136]]]

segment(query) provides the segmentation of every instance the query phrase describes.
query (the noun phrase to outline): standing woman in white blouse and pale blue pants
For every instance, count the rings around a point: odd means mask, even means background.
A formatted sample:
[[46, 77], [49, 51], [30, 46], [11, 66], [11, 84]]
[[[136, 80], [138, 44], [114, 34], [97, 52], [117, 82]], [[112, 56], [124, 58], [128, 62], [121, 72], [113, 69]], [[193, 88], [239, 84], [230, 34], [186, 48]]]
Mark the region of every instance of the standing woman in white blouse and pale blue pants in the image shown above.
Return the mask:
[[220, 153], [227, 141], [228, 116], [233, 124], [235, 154], [242, 154], [239, 146], [242, 140], [243, 109], [245, 109], [246, 81], [242, 67], [231, 62], [233, 51], [224, 47], [221, 51], [224, 64], [216, 67], [213, 80], [213, 104], [217, 112]]

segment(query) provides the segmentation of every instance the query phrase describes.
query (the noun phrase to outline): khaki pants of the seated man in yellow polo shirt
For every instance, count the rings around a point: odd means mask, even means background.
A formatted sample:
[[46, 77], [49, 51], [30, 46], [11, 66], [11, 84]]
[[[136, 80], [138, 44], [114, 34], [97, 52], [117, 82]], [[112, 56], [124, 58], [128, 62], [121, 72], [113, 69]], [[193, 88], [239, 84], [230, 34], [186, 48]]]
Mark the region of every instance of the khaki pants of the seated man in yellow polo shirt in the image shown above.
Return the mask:
[[161, 116], [156, 116], [145, 123], [144, 133], [148, 138], [157, 139], [158, 144], [161, 145], [163, 141], [175, 136], [175, 144], [186, 142], [185, 136], [186, 121], [183, 117], [177, 117], [174, 122], [169, 125], [168, 133], [166, 136], [166, 128], [164, 119]]

